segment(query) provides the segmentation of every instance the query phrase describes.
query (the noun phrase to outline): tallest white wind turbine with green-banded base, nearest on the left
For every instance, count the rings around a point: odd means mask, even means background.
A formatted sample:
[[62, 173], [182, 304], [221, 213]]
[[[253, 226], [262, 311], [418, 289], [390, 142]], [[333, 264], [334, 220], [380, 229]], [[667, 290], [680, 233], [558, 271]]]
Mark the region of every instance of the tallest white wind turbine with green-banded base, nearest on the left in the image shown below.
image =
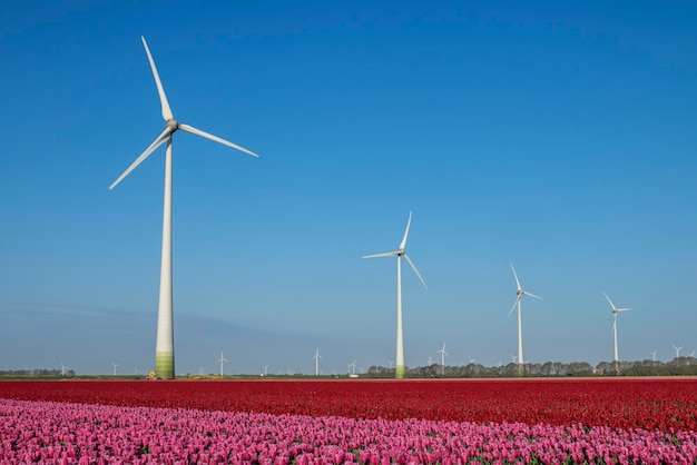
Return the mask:
[[171, 144], [174, 133], [177, 130], [189, 132], [196, 136], [200, 136], [205, 139], [213, 140], [214, 142], [222, 144], [224, 146], [232, 147], [234, 149], [244, 151], [245, 154], [258, 157], [230, 141], [222, 139], [208, 132], [204, 132], [200, 129], [196, 129], [193, 126], [178, 122], [169, 108], [165, 89], [159, 80], [159, 73], [155, 67], [155, 61], [150, 55], [150, 49], [145, 41], [145, 37], [140, 37], [145, 52], [148, 56], [150, 68], [153, 70], [153, 77], [155, 78], [155, 85], [157, 86], [157, 92], [159, 95], [163, 119], [166, 121], [165, 130], [157, 136], [155, 141], [138, 157], [136, 160], [119, 176], [109, 189], [114, 189], [130, 171], [136, 169], [146, 158], [150, 156], [163, 144], [167, 142], [167, 150], [165, 157], [165, 202], [163, 214], [163, 253], [160, 263], [160, 277], [159, 277], [159, 304], [157, 310], [157, 342], [155, 345], [155, 373], [159, 378], [174, 378], [175, 377], [175, 360], [174, 360], [174, 323], [173, 323], [173, 307], [171, 307]]

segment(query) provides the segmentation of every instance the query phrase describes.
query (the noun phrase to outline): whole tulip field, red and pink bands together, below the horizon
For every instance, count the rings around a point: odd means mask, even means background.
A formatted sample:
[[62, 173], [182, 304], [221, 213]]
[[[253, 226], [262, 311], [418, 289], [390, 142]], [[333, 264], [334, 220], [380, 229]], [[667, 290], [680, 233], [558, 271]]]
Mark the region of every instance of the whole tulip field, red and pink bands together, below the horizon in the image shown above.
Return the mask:
[[697, 380], [0, 382], [0, 463], [685, 463]]

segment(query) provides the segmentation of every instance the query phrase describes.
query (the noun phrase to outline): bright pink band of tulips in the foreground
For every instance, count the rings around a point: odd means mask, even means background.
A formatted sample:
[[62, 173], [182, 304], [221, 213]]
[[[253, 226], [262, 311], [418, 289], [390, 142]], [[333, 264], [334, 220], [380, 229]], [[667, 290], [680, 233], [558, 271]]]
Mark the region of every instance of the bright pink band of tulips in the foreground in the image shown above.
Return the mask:
[[695, 463], [697, 433], [0, 399], [0, 463]]

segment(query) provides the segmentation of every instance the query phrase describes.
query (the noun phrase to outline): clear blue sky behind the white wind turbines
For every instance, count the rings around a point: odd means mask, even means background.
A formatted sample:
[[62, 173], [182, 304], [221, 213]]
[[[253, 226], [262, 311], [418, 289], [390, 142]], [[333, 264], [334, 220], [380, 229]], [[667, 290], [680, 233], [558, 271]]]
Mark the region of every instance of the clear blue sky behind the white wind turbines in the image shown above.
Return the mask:
[[175, 116], [177, 373], [405, 357], [621, 359], [697, 348], [697, 6], [573, 2], [0, 6], [0, 369], [153, 367]]

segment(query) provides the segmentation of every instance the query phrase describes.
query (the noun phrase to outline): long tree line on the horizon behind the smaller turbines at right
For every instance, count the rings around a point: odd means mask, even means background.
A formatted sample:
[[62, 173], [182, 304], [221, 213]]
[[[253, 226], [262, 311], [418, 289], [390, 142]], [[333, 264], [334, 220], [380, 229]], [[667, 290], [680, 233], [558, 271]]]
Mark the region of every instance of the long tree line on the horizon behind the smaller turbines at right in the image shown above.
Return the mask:
[[[410, 378], [513, 378], [518, 377], [518, 364], [509, 363], [501, 366], [483, 366], [470, 363], [459, 366], [406, 367]], [[566, 377], [566, 376], [617, 376], [612, 362], [600, 362], [595, 367], [587, 362], [546, 362], [543, 364], [524, 364], [524, 376], [531, 377]], [[619, 376], [697, 376], [697, 358], [677, 357], [670, 362], [637, 360], [620, 362]], [[367, 377], [392, 378], [394, 368], [371, 366]]]

